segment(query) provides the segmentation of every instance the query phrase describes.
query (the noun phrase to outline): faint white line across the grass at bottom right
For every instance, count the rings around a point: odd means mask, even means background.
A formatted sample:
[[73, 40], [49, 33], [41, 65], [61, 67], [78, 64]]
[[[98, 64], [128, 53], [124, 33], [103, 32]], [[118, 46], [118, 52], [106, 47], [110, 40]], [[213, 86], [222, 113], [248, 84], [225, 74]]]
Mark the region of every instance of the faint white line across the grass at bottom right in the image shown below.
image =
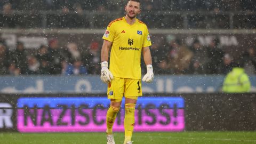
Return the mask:
[[145, 136], [135, 136], [135, 137], [142, 137], [142, 138], [149, 138], [149, 137], [155, 137], [155, 138], [167, 138], [167, 139], [191, 139], [191, 140], [220, 140], [220, 141], [245, 141], [245, 142], [256, 142], [256, 140], [245, 140], [245, 139], [225, 139], [225, 138], [184, 138], [184, 137], [162, 137], [162, 136], [156, 136], [156, 135], [150, 135], [148, 137]]

